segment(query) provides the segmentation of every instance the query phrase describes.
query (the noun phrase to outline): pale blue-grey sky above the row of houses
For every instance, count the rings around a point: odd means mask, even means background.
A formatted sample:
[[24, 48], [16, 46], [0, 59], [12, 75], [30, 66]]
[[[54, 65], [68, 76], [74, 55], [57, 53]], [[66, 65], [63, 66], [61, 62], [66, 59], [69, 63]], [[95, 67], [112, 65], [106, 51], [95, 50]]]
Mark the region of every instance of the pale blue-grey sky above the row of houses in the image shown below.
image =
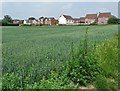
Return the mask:
[[111, 12], [118, 16], [118, 2], [2, 2], [2, 17], [10, 15], [13, 19], [28, 19], [71, 15], [84, 17], [86, 14]]

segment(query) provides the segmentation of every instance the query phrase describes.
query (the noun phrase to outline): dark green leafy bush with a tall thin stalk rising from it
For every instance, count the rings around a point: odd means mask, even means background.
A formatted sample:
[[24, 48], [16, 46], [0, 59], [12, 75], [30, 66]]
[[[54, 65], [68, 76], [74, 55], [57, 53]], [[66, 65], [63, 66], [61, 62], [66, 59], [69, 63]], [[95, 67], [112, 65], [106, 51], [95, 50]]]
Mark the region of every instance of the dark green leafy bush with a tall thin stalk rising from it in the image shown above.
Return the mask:
[[[88, 39], [87, 39], [87, 31], [83, 44], [83, 48], [79, 50], [77, 53], [74, 53], [74, 49], [72, 47], [72, 55], [70, 61], [67, 64], [67, 76], [75, 83], [79, 83], [80, 85], [87, 85], [88, 83], [92, 83], [95, 80], [95, 77], [100, 74], [101, 69], [97, 63], [97, 60], [90, 54], [92, 52], [88, 52]], [[80, 45], [81, 46], [81, 45]]]

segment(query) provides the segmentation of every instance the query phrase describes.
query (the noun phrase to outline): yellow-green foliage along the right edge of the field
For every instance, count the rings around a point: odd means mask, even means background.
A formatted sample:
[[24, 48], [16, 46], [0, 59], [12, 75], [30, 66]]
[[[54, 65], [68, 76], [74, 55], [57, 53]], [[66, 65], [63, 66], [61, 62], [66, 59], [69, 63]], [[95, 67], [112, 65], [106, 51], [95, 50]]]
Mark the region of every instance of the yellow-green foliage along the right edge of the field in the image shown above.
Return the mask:
[[94, 55], [103, 69], [103, 75], [117, 80], [118, 77], [118, 40], [117, 37], [96, 46]]

